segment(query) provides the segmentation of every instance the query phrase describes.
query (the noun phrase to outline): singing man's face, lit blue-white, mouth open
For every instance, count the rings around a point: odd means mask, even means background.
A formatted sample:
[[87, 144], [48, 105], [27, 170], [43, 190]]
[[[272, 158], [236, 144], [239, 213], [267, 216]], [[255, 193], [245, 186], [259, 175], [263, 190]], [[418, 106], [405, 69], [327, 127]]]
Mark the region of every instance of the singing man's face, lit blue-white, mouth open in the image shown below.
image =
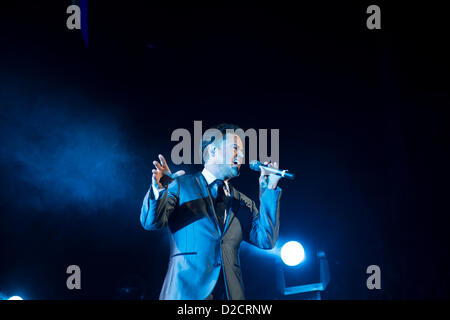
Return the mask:
[[225, 139], [215, 146], [214, 164], [227, 178], [237, 177], [241, 164], [244, 161], [244, 145], [241, 138], [232, 133], [227, 133]]

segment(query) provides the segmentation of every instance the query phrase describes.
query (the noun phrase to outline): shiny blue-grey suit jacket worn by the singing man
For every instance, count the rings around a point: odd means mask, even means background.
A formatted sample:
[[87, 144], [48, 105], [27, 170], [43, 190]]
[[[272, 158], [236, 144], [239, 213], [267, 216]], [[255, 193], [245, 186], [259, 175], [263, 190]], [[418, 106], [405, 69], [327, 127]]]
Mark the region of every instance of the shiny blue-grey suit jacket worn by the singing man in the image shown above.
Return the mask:
[[[207, 182], [199, 172], [184, 175], [154, 200], [148, 190], [141, 210], [146, 230], [168, 226], [170, 259], [161, 290], [162, 300], [203, 300], [219, 277], [224, 279], [229, 299], [245, 299], [239, 264], [242, 240], [272, 249], [278, 238], [281, 189], [266, 189], [260, 208], [230, 185], [224, 230], [219, 227]], [[223, 267], [223, 268], [221, 268]]]

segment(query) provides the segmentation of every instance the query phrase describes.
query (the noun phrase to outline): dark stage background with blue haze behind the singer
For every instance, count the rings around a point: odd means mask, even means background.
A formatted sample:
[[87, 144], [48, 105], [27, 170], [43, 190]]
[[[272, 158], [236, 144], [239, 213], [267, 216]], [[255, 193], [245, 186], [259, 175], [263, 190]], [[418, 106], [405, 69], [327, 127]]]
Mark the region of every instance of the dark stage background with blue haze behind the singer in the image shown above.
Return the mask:
[[[156, 299], [167, 234], [139, 223], [151, 162], [202, 120], [280, 129], [297, 178], [281, 182], [279, 243], [327, 253], [324, 298], [449, 297], [441, 6], [378, 2], [382, 29], [368, 30], [373, 3], [89, 1], [87, 47], [70, 4], [1, 10], [1, 294], [110, 299], [137, 282]], [[257, 199], [256, 173], [235, 185]], [[272, 298], [270, 257], [243, 246], [248, 298]], [[66, 288], [70, 264], [82, 290]], [[371, 264], [382, 290], [366, 288]]]

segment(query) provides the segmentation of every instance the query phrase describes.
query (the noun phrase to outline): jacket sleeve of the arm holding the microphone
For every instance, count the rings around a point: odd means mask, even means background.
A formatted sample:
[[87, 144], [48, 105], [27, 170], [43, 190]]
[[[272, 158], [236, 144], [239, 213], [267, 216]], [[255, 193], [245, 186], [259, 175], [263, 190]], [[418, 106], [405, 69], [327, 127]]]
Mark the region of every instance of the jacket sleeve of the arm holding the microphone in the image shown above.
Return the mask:
[[273, 249], [280, 229], [281, 189], [266, 189], [260, 198], [259, 210], [252, 201], [250, 230], [246, 240], [261, 249]]

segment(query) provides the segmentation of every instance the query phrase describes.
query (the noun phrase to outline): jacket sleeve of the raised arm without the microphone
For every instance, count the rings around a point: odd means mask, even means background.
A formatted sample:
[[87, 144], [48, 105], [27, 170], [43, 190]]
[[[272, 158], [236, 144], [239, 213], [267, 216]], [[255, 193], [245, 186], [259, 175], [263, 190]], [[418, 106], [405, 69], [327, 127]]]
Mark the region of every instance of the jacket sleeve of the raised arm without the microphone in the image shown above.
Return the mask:
[[168, 187], [159, 192], [155, 200], [153, 188], [150, 187], [144, 197], [141, 208], [141, 225], [145, 230], [159, 230], [167, 226], [173, 210], [178, 205], [179, 181], [175, 179]]

